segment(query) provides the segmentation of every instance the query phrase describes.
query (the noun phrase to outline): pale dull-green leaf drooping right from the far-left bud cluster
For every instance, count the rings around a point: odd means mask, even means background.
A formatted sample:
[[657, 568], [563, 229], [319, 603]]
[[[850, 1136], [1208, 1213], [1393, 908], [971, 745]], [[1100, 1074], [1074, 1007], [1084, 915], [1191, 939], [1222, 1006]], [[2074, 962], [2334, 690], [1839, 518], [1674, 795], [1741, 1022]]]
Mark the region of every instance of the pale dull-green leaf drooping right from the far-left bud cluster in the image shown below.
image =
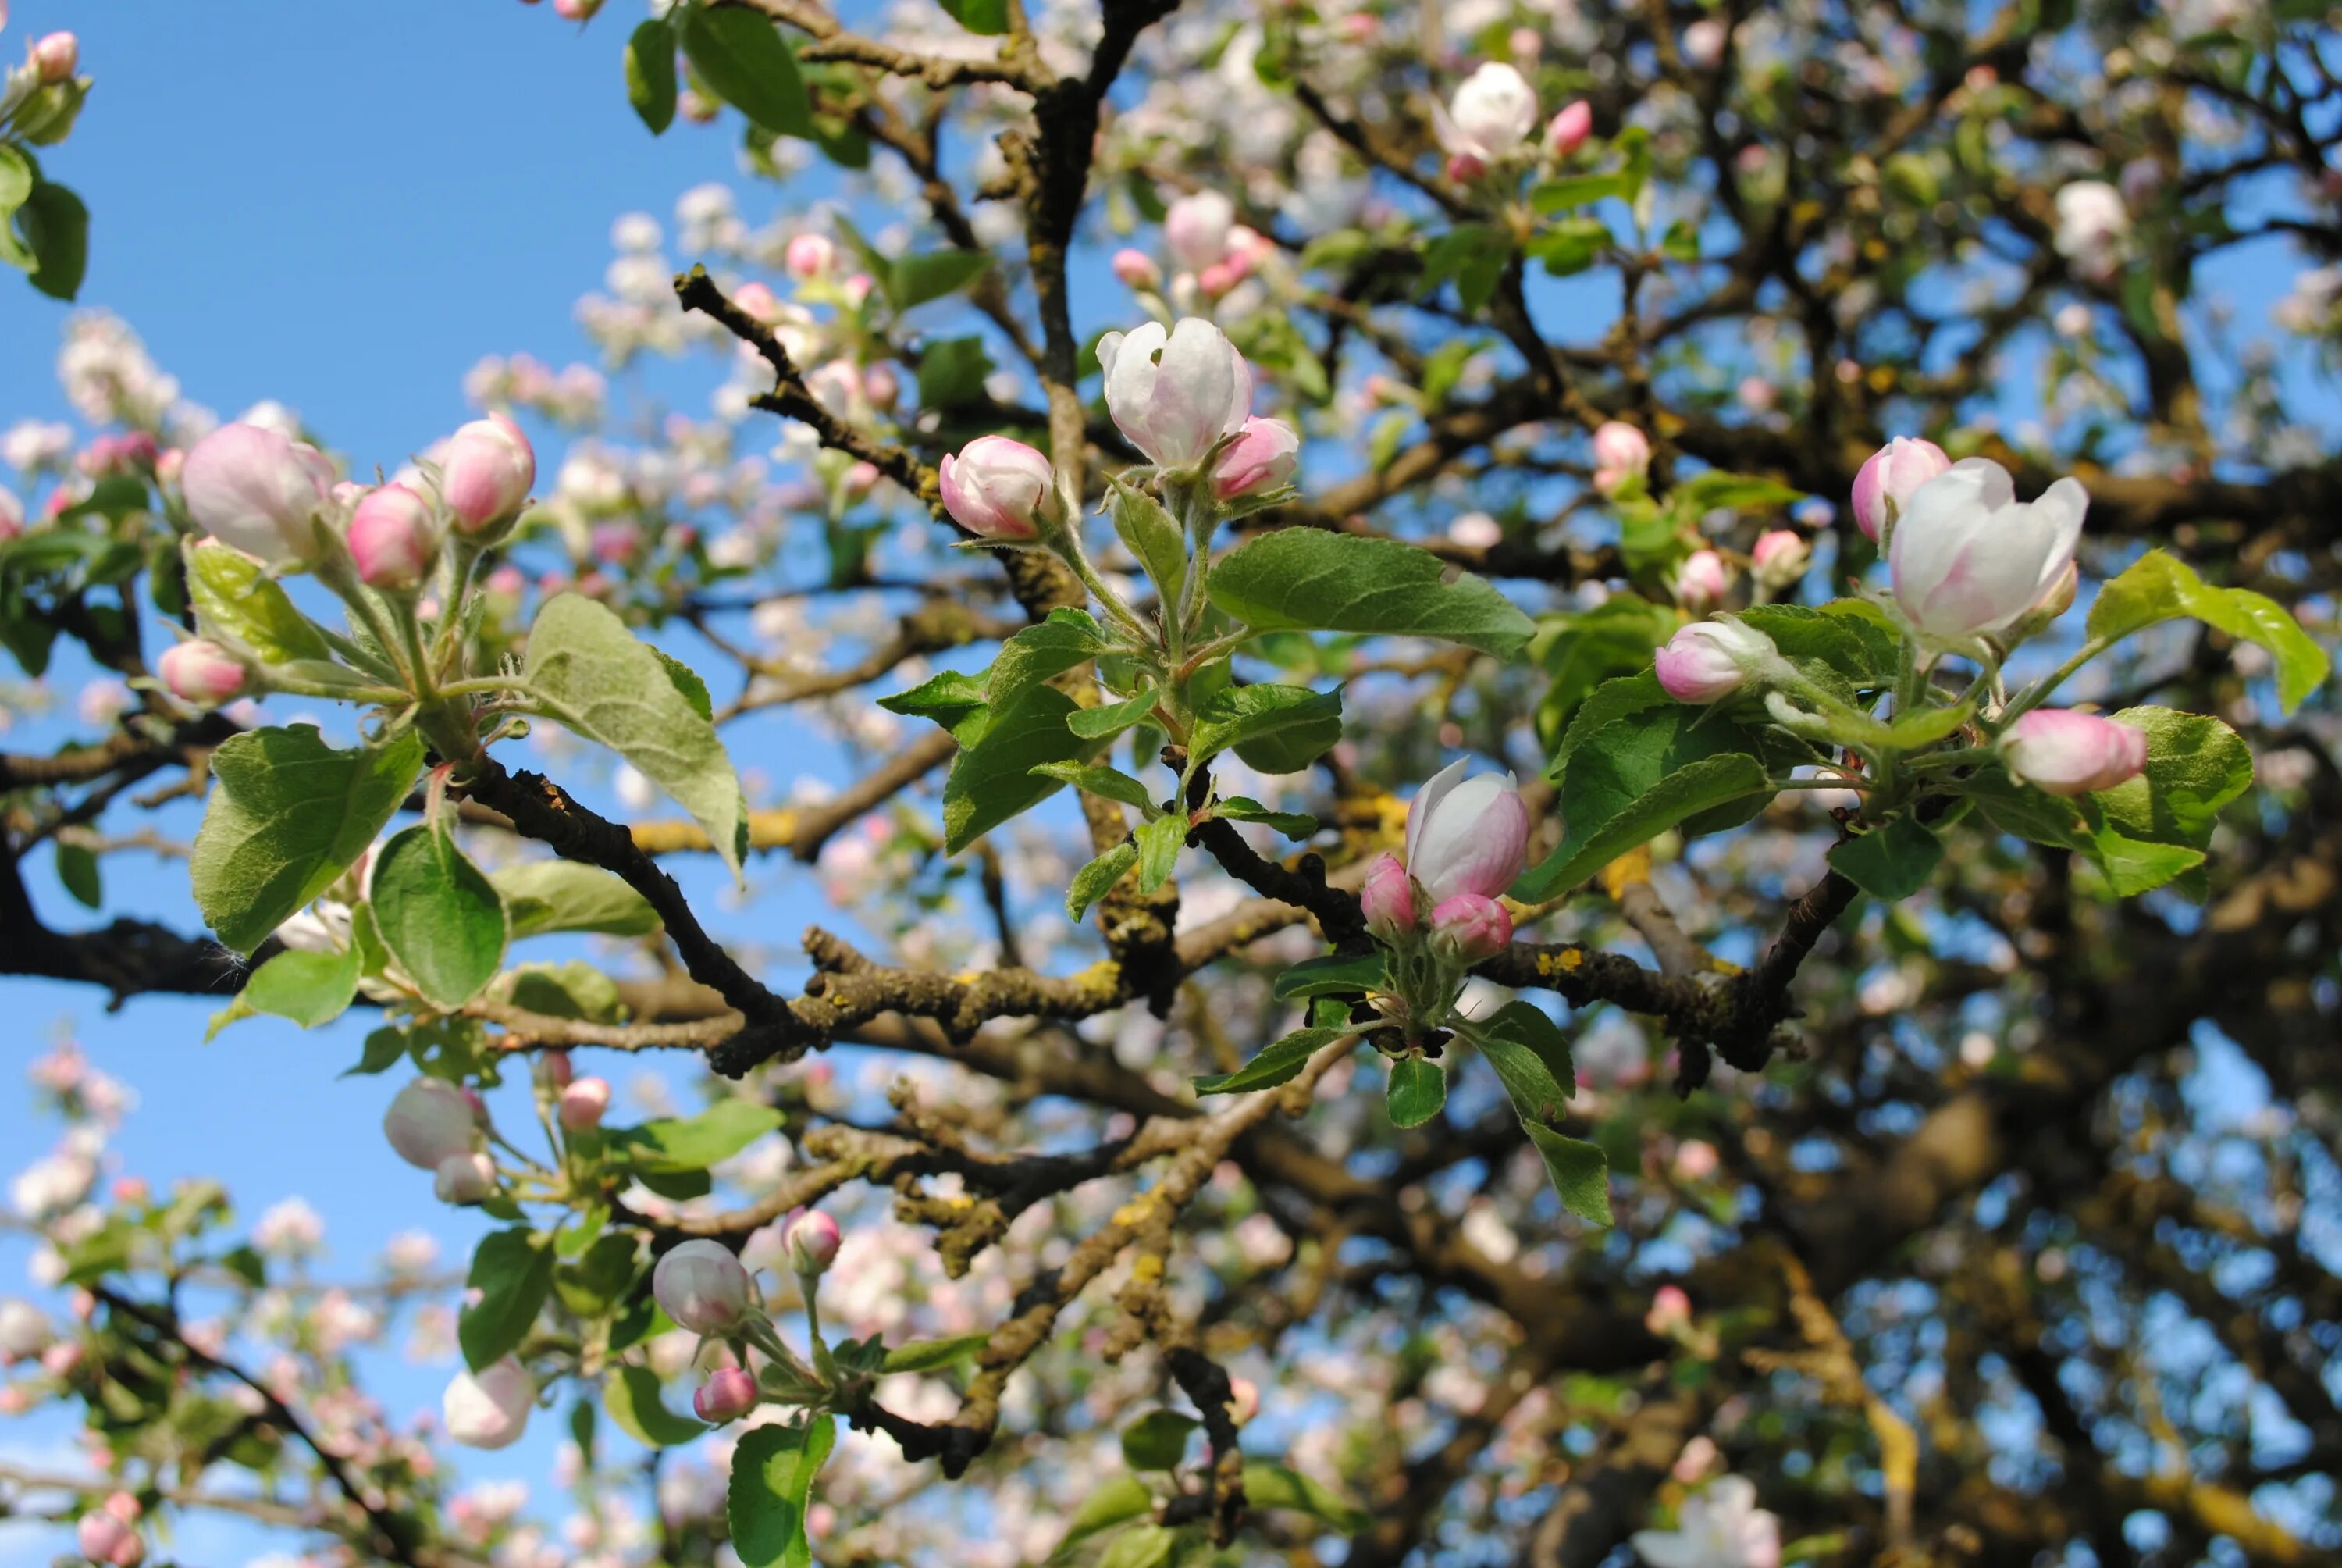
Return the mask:
[[[693, 19], [705, 14], [696, 9]], [[717, 14], [749, 16], [771, 30], [749, 12]], [[522, 677], [548, 717], [611, 748], [674, 797], [733, 877], [740, 874], [747, 806], [724, 741], [625, 621], [581, 593], [553, 595], [529, 628]]]

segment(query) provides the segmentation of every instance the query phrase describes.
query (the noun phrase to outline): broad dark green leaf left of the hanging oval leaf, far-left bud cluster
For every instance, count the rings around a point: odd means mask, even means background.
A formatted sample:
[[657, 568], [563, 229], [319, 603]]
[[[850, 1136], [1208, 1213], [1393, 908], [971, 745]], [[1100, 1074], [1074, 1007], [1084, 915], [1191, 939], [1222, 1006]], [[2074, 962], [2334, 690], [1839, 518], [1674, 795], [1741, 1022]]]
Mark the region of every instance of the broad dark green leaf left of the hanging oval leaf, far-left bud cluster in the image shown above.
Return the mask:
[[194, 902], [220, 942], [248, 954], [330, 888], [405, 802], [422, 759], [415, 731], [349, 752], [314, 724], [222, 741], [190, 858]]

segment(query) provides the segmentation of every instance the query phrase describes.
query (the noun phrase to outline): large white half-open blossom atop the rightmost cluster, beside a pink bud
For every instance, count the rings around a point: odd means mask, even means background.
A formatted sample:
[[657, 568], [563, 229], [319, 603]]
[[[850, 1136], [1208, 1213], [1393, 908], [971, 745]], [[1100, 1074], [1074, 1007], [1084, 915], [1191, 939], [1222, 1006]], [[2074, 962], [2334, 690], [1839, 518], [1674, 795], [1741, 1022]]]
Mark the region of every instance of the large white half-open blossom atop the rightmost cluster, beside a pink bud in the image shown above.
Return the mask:
[[1927, 638], [2002, 630], [2066, 574], [2089, 492], [2061, 478], [2019, 502], [1995, 462], [1951, 464], [1911, 495], [1888, 544], [1895, 602]]

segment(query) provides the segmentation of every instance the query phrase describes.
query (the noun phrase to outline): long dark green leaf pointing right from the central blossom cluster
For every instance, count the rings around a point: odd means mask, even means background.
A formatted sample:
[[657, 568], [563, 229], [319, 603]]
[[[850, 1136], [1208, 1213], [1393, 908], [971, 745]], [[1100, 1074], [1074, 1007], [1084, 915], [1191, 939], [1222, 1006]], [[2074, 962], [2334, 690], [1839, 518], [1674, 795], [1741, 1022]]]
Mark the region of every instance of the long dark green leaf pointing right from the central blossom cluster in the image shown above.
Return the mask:
[[1398, 539], [1283, 527], [1230, 551], [1204, 584], [1253, 630], [1440, 638], [1518, 659], [1536, 623], [1487, 581]]

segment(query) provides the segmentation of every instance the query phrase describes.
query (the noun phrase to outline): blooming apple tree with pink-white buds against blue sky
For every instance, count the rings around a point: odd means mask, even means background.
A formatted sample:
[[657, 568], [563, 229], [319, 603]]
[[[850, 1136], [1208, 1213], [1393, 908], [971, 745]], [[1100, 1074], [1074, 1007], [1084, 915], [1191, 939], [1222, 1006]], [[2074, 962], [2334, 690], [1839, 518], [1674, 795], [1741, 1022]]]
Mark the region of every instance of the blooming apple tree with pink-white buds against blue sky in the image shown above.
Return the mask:
[[[611, 42], [754, 195], [684, 195], [684, 267], [623, 218], [578, 319], [712, 417], [513, 354], [340, 455], [84, 314], [89, 434], [0, 448], [0, 640], [119, 682], [0, 757], [0, 970], [363, 1017], [415, 1200], [482, 1219], [461, 1298], [321, 1287], [314, 1216], [101, 1191], [124, 1095], [44, 1055], [68, 1296], [0, 1357], [87, 1411], [98, 1472], [23, 1479], [82, 1556], [244, 1507], [560, 1561], [358, 1390], [400, 1320], [454, 1444], [567, 1406], [611, 1563], [2342, 1545], [2342, 316], [2302, 270], [2244, 345], [2204, 281], [2342, 253], [2316, 16]], [[208, 933], [61, 928], [35, 851], [91, 905], [185, 853]], [[738, 914], [792, 886], [836, 919], [782, 954]], [[649, 1050], [698, 1111], [628, 1120]]]

